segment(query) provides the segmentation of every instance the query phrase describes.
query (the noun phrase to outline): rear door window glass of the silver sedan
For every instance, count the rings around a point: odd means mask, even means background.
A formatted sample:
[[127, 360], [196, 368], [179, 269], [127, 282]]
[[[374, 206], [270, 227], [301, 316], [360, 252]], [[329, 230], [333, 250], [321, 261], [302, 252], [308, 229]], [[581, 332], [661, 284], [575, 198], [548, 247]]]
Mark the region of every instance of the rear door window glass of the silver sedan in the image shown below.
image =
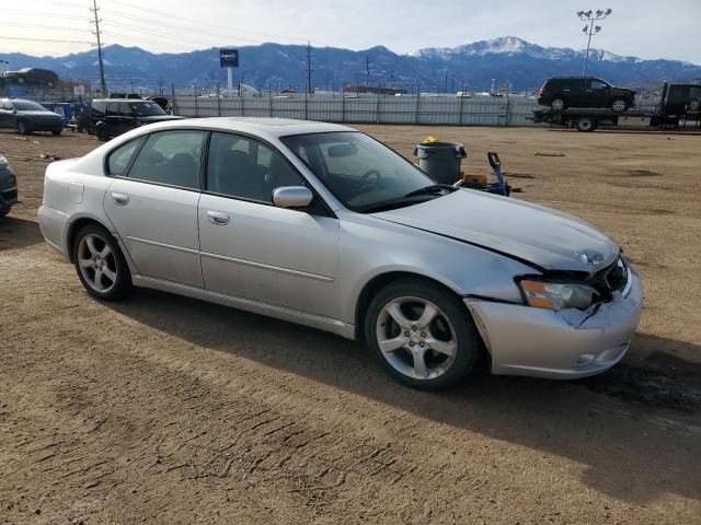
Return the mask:
[[151, 133], [134, 161], [128, 177], [199, 188], [205, 135], [204, 131], [185, 129]]

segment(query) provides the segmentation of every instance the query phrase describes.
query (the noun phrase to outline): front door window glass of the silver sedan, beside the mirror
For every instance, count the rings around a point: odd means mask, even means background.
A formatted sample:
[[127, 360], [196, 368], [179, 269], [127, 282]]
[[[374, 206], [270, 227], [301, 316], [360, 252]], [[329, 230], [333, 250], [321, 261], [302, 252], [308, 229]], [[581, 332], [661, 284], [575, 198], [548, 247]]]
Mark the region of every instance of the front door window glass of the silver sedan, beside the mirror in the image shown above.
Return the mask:
[[301, 186], [301, 177], [267, 144], [231, 133], [211, 133], [207, 160], [207, 191], [273, 201], [280, 186]]

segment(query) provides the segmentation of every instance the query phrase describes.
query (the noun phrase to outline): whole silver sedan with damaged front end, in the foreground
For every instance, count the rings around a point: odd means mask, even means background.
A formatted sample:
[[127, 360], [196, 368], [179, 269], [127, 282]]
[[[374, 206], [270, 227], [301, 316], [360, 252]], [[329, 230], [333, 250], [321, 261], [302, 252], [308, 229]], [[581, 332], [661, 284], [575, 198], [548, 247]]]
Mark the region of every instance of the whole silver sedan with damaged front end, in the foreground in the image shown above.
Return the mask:
[[625, 353], [642, 284], [572, 215], [437, 185], [345, 126], [203, 118], [54, 162], [46, 241], [94, 298], [170, 291], [365, 340], [400, 382], [574, 378]]

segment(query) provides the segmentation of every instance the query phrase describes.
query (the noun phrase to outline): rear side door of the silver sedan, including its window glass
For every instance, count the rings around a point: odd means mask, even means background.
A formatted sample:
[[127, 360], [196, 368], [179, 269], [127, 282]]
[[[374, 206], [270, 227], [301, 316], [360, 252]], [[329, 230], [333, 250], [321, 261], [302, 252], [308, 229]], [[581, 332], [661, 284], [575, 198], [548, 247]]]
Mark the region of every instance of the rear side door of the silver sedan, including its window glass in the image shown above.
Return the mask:
[[114, 182], [105, 212], [141, 276], [203, 287], [197, 203], [205, 137], [158, 131], [107, 159]]

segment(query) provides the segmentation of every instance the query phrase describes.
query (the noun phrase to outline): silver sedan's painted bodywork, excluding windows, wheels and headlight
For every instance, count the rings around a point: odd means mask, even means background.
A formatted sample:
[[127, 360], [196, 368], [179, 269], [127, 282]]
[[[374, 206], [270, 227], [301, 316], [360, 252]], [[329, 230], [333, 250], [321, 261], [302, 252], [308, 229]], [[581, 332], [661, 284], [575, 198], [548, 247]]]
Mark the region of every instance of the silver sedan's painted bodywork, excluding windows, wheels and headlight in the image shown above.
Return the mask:
[[[122, 143], [183, 128], [268, 142], [335, 217], [105, 176], [105, 155]], [[395, 272], [432, 279], [463, 298], [498, 374], [578, 377], [622, 358], [642, 307], [634, 272], [625, 294], [587, 312], [526, 306], [515, 281], [547, 271], [594, 271], [619, 256], [610, 238], [566, 213], [471, 190], [381, 213], [353, 212], [280, 141], [325, 131], [354, 130], [240, 118], [135, 129], [82, 159], [48, 166], [38, 213], [42, 232], [70, 257], [71, 229], [79, 221], [95, 221], [118, 240], [136, 285], [347, 338], [358, 335], [358, 302], [374, 279]], [[82, 188], [80, 199], [77, 188]]]

